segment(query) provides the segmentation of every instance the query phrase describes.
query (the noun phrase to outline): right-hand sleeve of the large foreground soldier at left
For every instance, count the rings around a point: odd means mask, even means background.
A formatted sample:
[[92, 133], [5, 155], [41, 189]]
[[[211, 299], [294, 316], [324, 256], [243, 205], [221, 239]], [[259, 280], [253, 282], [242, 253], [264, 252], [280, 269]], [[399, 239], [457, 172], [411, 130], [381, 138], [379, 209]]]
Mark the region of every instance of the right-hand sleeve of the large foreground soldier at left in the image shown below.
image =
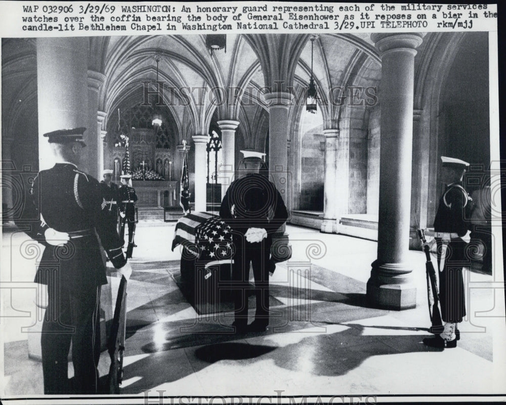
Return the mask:
[[121, 249], [123, 244], [119, 240], [116, 227], [111, 221], [107, 220], [106, 213], [102, 210], [102, 194], [99, 182], [93, 178], [86, 179], [81, 175], [79, 176], [79, 184], [81, 183], [85, 183], [86, 185], [86, 187], [83, 187], [83, 193], [86, 194], [82, 195], [83, 199], [86, 196], [87, 203], [85, 209], [91, 215], [92, 223], [100, 237], [102, 247], [115, 268], [123, 267], [126, 264], [126, 258]]

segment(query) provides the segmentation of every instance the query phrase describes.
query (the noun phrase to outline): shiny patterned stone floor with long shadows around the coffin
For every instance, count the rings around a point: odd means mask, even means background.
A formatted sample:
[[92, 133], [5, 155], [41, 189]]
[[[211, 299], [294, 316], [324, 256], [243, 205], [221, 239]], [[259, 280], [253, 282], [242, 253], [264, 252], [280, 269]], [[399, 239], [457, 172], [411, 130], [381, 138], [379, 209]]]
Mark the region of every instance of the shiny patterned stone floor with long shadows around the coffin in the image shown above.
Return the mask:
[[[157, 224], [160, 225], [160, 224]], [[376, 242], [287, 227], [293, 257], [271, 278], [265, 333], [236, 336], [231, 313], [198, 315], [174, 281], [180, 253], [170, 251], [174, 224], [139, 227], [128, 286], [122, 394], [503, 394], [502, 276], [466, 272], [468, 318], [455, 349], [430, 349], [425, 258], [409, 252], [417, 307], [369, 308], [365, 283]], [[4, 234], [2, 309], [7, 395], [41, 394], [42, 370], [28, 358], [34, 322], [35, 256], [19, 234]], [[24, 256], [24, 257], [23, 257]], [[11, 271], [12, 270], [12, 271]], [[171, 274], [175, 273], [175, 274]], [[112, 278], [113, 292], [117, 278]], [[15, 308], [15, 309], [14, 309]], [[24, 312], [23, 312], [24, 311]], [[275, 313], [274, 313], [275, 312]], [[7, 316], [7, 317], [6, 317]], [[24, 316], [24, 317], [23, 317]], [[250, 317], [254, 310], [250, 311]], [[495, 317], [494, 317], [495, 316]], [[109, 368], [107, 352], [101, 375]], [[72, 375], [70, 365], [69, 373]]]

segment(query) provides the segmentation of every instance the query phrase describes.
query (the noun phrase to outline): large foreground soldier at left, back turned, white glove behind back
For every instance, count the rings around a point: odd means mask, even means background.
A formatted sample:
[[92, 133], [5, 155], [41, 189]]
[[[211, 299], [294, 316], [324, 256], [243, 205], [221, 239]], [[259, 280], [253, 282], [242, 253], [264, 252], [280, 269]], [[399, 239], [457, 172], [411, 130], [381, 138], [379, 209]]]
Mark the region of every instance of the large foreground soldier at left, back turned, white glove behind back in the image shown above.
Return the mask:
[[[38, 173], [19, 225], [45, 246], [35, 282], [48, 286], [41, 335], [45, 394], [94, 394], [100, 357], [100, 291], [107, 284], [100, 242], [120, 273], [130, 276], [114, 226], [104, 220], [98, 180], [78, 170], [86, 128], [44, 134], [57, 163]], [[97, 238], [100, 237], [100, 242]], [[74, 386], [67, 377], [72, 343]]]

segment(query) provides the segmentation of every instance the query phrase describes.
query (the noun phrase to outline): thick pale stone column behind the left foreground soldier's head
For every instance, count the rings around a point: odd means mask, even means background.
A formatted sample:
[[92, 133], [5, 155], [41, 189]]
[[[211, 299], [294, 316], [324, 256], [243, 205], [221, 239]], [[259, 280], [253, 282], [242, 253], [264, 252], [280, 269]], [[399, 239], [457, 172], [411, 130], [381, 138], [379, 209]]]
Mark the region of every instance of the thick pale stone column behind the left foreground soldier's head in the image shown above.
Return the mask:
[[55, 163], [43, 134], [89, 127], [88, 42], [86, 37], [37, 38], [39, 170]]

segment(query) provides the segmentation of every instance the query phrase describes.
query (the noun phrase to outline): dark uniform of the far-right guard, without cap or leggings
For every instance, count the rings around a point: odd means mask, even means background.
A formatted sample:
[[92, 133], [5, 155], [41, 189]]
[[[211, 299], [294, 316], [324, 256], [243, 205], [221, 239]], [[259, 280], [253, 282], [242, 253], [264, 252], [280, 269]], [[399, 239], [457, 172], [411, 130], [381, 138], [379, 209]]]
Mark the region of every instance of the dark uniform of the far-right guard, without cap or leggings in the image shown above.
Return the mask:
[[446, 187], [434, 220], [438, 248], [439, 299], [445, 322], [461, 322], [466, 316], [462, 267], [470, 265], [468, 244], [461, 239], [468, 231], [466, 209], [470, 197], [461, 183]]

